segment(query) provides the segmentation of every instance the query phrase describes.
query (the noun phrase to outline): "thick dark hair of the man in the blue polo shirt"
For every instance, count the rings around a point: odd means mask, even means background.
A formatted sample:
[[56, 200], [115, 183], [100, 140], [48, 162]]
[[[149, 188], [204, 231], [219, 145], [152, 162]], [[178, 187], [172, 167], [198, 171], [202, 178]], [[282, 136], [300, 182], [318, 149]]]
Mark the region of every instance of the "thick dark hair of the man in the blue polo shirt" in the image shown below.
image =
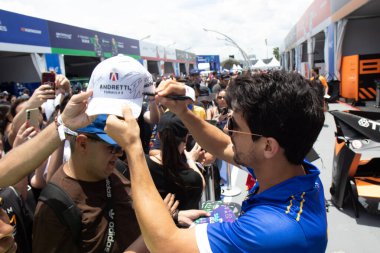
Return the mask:
[[227, 89], [227, 102], [252, 133], [275, 138], [293, 164], [310, 151], [325, 118], [315, 85], [284, 71], [237, 77]]

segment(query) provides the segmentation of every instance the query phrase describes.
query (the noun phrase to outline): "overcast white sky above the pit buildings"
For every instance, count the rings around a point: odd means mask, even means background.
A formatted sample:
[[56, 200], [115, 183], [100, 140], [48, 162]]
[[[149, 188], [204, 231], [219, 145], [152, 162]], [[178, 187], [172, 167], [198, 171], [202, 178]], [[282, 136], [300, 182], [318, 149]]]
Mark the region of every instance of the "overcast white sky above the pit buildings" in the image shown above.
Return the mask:
[[[271, 58], [313, 0], [0, 0], [0, 9], [185, 50]], [[265, 43], [267, 41], [267, 44]]]

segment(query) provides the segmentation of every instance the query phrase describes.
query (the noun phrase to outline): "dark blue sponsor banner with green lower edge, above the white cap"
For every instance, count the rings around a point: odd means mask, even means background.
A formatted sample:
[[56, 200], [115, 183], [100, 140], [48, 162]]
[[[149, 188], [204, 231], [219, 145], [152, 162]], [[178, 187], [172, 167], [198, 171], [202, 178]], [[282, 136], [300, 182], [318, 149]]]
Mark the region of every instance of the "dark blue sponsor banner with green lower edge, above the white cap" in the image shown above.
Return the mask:
[[54, 53], [105, 58], [140, 54], [138, 40], [51, 21], [48, 26]]

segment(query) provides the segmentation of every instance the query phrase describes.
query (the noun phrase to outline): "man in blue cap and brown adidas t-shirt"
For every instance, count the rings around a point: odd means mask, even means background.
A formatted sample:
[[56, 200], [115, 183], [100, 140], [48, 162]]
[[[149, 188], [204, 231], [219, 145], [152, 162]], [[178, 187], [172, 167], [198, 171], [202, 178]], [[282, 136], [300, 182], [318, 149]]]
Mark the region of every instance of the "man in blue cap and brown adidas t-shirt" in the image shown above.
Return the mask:
[[[139, 237], [140, 229], [128, 195], [129, 181], [115, 170], [123, 151], [104, 132], [106, 119], [107, 115], [100, 115], [68, 137], [70, 160], [50, 181], [63, 189], [81, 210], [79, 244], [54, 211], [40, 201], [34, 218], [33, 252], [100, 252], [108, 243], [113, 245], [109, 252], [122, 252]], [[107, 232], [111, 228], [116, 235]]]

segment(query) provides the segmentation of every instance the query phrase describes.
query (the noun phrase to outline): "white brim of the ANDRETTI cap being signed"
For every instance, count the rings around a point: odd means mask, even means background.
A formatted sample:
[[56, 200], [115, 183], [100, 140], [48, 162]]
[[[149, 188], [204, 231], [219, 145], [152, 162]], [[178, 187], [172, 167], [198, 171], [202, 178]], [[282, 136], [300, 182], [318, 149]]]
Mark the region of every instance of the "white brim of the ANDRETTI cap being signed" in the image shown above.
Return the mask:
[[123, 108], [128, 105], [133, 117], [138, 118], [141, 113], [143, 98], [117, 99], [117, 98], [91, 98], [86, 110], [87, 115], [113, 114], [123, 117]]

